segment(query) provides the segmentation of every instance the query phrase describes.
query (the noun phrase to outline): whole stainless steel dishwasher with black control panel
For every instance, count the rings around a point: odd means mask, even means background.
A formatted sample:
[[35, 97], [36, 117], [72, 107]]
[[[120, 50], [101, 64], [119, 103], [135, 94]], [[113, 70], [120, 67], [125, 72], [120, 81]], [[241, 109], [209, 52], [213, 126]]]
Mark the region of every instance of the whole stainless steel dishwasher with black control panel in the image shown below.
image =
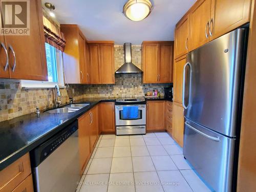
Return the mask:
[[75, 191], [80, 181], [77, 120], [36, 147], [30, 156], [35, 191]]

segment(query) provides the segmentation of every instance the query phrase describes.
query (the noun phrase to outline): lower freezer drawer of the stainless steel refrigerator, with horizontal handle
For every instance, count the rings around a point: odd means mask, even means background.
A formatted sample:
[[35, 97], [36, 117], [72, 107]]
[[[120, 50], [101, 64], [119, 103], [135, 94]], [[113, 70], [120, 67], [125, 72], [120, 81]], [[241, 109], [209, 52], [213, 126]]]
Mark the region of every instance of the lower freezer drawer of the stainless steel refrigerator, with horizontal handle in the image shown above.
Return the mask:
[[215, 191], [231, 191], [236, 139], [188, 119], [184, 127], [184, 157]]

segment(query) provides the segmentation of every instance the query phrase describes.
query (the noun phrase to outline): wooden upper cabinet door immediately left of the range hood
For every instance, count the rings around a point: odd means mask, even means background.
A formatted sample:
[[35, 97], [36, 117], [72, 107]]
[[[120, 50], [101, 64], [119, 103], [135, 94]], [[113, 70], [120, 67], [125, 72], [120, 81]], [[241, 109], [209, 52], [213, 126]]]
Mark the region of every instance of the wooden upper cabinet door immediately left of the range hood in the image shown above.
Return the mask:
[[114, 45], [100, 44], [100, 73], [102, 84], [115, 84]]

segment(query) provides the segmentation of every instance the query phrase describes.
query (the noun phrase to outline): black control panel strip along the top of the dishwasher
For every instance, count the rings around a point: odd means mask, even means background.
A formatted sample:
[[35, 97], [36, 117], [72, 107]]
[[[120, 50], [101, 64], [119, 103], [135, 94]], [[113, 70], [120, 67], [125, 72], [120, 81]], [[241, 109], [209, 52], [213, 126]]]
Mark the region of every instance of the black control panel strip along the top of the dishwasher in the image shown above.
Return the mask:
[[38, 166], [77, 130], [78, 122], [76, 120], [68, 125], [64, 130], [60, 131], [59, 133], [48, 139], [46, 142], [36, 147], [30, 153], [32, 166]]

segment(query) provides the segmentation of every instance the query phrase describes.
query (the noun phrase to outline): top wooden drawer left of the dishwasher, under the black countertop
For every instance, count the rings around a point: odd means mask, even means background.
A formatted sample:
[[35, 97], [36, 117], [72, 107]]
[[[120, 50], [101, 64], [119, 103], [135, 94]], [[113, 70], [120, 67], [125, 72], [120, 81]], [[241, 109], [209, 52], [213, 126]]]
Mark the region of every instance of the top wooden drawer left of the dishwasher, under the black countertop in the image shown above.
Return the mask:
[[31, 174], [29, 153], [0, 172], [0, 192], [12, 191]]

